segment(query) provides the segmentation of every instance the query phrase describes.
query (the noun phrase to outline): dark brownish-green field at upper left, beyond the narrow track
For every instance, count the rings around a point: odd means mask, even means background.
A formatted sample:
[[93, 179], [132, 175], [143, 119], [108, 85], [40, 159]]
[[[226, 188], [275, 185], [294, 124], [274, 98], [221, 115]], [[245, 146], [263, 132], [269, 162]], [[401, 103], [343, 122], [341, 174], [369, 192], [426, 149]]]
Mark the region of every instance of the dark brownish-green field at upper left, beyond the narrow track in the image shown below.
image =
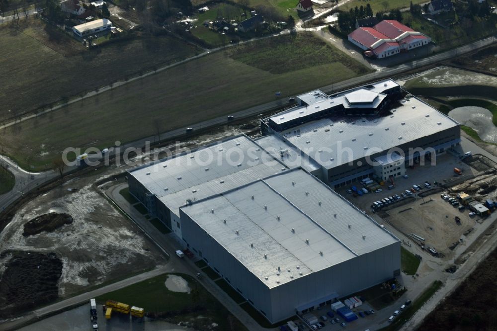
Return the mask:
[[[195, 54], [176, 39], [143, 37], [92, 50], [36, 18], [0, 26], [0, 121]], [[11, 112], [7, 112], [11, 110]]]

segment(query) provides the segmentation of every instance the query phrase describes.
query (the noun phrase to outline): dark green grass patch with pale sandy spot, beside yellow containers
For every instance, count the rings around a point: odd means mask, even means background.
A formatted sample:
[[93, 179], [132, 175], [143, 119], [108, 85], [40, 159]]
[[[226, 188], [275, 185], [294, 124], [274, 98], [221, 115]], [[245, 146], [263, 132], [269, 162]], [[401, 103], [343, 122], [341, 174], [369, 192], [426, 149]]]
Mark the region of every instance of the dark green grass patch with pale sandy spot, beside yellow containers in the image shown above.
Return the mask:
[[[146, 313], [166, 313], [167, 319], [176, 323], [191, 319], [196, 323], [196, 330], [206, 330], [212, 323], [218, 324], [219, 330], [247, 330], [195, 279], [189, 275], [177, 275], [188, 282], [191, 289], [189, 294], [169, 291], [165, 285], [168, 274], [164, 274], [98, 296], [96, 301], [100, 304], [111, 299], [144, 308]], [[196, 306], [200, 310], [193, 311]], [[199, 315], [207, 319], [199, 319]]]

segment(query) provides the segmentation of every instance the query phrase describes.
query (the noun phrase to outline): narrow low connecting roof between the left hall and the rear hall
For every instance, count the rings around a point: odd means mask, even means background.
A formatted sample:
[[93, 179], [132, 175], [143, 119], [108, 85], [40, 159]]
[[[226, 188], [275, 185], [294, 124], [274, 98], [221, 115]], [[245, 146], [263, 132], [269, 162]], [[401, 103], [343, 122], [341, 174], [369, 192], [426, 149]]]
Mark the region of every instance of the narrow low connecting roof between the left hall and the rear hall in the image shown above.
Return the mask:
[[256, 139], [255, 142], [290, 169], [298, 166], [303, 167], [309, 172], [321, 169], [321, 165], [318, 165], [314, 160], [288, 144], [279, 136], [263, 136]]

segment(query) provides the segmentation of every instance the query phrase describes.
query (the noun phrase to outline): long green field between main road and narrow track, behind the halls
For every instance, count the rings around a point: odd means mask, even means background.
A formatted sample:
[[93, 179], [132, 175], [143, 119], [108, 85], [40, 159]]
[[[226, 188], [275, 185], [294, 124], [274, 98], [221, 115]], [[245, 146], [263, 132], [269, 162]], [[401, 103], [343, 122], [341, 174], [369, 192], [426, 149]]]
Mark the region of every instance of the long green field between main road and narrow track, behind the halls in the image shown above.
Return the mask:
[[[43, 169], [67, 147], [102, 149], [153, 136], [157, 127], [165, 132], [272, 101], [276, 91], [285, 100], [368, 72], [313, 34], [255, 45], [257, 50], [230, 48], [11, 126], [2, 132], [5, 152], [23, 168]], [[305, 57], [301, 47], [313, 56]], [[267, 56], [280, 61], [262, 66]]]

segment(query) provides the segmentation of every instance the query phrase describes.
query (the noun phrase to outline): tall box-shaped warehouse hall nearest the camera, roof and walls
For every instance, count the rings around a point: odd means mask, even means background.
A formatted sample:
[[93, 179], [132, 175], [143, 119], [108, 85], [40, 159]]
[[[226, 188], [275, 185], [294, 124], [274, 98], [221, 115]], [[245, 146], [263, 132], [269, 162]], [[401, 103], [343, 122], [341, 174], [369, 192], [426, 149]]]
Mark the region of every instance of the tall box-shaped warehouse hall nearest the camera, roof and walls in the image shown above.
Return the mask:
[[183, 240], [271, 323], [400, 273], [400, 242], [301, 168], [180, 208]]

